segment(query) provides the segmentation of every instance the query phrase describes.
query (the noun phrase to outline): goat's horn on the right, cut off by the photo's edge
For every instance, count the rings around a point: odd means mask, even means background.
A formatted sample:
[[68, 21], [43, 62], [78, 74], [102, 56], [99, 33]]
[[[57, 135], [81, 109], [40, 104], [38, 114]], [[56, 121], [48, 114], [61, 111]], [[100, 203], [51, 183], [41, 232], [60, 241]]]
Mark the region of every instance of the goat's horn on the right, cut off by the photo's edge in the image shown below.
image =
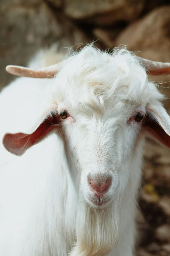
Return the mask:
[[143, 59], [136, 56], [136, 58], [142, 62], [147, 73], [150, 75], [168, 75], [170, 74], [170, 63], [169, 62], [157, 62], [152, 60]]

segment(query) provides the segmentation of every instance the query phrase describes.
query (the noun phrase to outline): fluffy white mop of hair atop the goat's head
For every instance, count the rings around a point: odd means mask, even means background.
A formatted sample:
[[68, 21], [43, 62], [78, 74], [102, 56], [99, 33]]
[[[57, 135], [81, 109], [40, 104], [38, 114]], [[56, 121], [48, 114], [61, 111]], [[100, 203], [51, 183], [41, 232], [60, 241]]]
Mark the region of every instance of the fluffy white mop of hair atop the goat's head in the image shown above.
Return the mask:
[[85, 47], [65, 60], [55, 78], [57, 101], [66, 100], [73, 106], [97, 108], [123, 100], [146, 104], [152, 97], [160, 98], [145, 70], [128, 51], [106, 54]]

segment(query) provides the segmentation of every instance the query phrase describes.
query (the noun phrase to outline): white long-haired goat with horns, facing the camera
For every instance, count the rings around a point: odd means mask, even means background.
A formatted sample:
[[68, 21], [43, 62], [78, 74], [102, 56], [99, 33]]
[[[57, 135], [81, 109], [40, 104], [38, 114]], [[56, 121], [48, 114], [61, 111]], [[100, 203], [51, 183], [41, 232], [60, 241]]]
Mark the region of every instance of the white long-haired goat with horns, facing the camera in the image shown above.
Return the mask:
[[132, 256], [144, 137], [170, 147], [170, 117], [146, 70], [125, 49], [92, 46], [52, 69], [7, 70], [59, 72], [18, 78], [0, 97], [1, 134], [15, 132], [3, 145], [26, 151], [1, 160], [0, 256]]

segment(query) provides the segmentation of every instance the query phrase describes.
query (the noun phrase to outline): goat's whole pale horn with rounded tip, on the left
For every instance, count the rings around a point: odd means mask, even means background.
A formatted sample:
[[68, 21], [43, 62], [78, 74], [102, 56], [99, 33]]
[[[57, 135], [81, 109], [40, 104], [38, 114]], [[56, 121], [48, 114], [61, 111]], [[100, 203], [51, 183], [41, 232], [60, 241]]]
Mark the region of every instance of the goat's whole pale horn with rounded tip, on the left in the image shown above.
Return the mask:
[[8, 65], [6, 71], [19, 77], [53, 78], [60, 71], [61, 62], [41, 69], [31, 69], [21, 66]]

